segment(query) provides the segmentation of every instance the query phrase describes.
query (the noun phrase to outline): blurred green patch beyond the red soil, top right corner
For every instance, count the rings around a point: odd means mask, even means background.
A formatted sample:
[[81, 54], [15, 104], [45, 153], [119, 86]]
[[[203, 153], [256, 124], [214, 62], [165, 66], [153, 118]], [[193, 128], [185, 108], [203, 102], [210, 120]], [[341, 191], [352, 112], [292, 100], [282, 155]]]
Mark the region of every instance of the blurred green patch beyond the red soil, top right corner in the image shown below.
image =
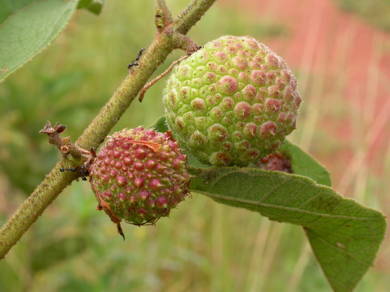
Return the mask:
[[381, 29], [390, 31], [389, 0], [336, 0], [345, 11], [354, 12]]

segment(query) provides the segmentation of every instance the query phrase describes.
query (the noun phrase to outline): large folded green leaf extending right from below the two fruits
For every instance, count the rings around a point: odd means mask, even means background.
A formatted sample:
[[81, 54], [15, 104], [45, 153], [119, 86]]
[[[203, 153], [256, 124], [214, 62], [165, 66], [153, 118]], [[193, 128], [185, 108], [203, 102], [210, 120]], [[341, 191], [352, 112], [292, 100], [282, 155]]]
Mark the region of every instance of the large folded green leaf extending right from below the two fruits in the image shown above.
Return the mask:
[[194, 168], [190, 189], [213, 200], [302, 225], [333, 291], [351, 292], [385, 236], [379, 211], [309, 178], [252, 168]]

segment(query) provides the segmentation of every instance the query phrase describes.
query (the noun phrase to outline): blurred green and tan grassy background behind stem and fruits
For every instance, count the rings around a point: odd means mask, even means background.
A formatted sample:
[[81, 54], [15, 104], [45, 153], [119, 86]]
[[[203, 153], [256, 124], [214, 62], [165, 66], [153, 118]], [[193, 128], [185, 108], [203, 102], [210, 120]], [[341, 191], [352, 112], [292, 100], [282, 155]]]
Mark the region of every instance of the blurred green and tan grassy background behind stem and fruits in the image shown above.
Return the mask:
[[[188, 1], [167, 2], [176, 15]], [[290, 13], [289, 9], [269, 4], [267, 12], [262, 12], [258, 1], [249, 2], [257, 9], [235, 1], [217, 2], [189, 36], [202, 45], [221, 35], [250, 35], [270, 46], [275, 43], [271, 48], [284, 57], [284, 50], [276, 48], [292, 40], [296, 26], [274, 15], [282, 8], [282, 14]], [[294, 1], [276, 2], [295, 5]], [[303, 2], [311, 5], [311, 1]], [[336, 9], [331, 1], [327, 5]], [[98, 17], [78, 11], [46, 51], [0, 84], [0, 223], [59, 159], [46, 135], [39, 135], [46, 121], [67, 125], [64, 135], [77, 140], [128, 73], [127, 64], [153, 40], [155, 31], [152, 1], [108, 1]], [[390, 41], [386, 35], [383, 39], [376, 52], [386, 55]], [[298, 45], [298, 50], [303, 49], [303, 44]], [[298, 54], [285, 53], [288, 58]], [[156, 74], [182, 54], [175, 51]], [[358, 165], [350, 183], [340, 179], [348, 177], [346, 165], [353, 162], [365, 141], [360, 115], [342, 98], [328, 98], [334, 92], [327, 82], [333, 75], [340, 79], [339, 71], [333, 70], [329, 76], [325, 70], [310, 71], [288, 58], [305, 101], [290, 140], [331, 169], [336, 190], [389, 216], [389, 142], [375, 148], [370, 163]], [[372, 61], [371, 65], [376, 64]], [[142, 103], [135, 101], [114, 130], [147, 127], [161, 116], [164, 80], [147, 91]], [[375, 80], [381, 86], [381, 81]], [[339, 95], [344, 92], [339, 87], [335, 90]], [[379, 100], [377, 91], [370, 94]], [[328, 102], [321, 104], [326, 98]], [[370, 110], [375, 116], [375, 107]], [[327, 128], [340, 127], [346, 117], [352, 127], [347, 142], [331, 136]], [[388, 120], [384, 122], [378, 135], [386, 137], [390, 128]], [[370, 131], [371, 124], [364, 129]], [[368, 153], [372, 150], [366, 148]], [[0, 292], [331, 291], [298, 226], [271, 222], [193, 194], [156, 226], [123, 226], [123, 242], [116, 226], [96, 211], [96, 206], [89, 183], [74, 182], [68, 187], [0, 261]], [[356, 291], [390, 291], [389, 259], [388, 238]]]

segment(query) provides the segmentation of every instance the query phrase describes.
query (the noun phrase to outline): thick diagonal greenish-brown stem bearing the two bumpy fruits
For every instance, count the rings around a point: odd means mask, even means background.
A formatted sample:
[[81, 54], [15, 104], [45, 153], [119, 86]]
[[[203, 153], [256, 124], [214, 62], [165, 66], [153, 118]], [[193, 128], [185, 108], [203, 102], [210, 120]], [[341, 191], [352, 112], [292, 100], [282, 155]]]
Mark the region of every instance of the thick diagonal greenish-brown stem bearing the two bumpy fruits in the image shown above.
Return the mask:
[[[162, 5], [164, 3], [162, 0], [158, 2]], [[187, 38], [183, 35], [188, 32], [191, 26], [195, 25], [214, 2], [215, 0], [192, 1], [180, 13], [179, 18], [174, 19], [177, 26], [166, 26], [160, 33], [156, 34], [155, 40], [142, 56], [137, 68], [132, 69], [114, 95], [78, 138], [75, 143], [78, 147], [96, 149], [104, 141], [142, 86], [174, 49], [183, 48], [183, 38]], [[64, 164], [65, 158], [61, 158], [52, 171], [46, 175], [43, 182], [0, 229], [0, 259], [4, 258], [11, 247], [19, 241], [20, 237], [38, 219], [47, 206], [57, 198], [59, 193], [76, 179], [77, 174], [75, 173], [64, 175], [59, 171], [59, 168]]]

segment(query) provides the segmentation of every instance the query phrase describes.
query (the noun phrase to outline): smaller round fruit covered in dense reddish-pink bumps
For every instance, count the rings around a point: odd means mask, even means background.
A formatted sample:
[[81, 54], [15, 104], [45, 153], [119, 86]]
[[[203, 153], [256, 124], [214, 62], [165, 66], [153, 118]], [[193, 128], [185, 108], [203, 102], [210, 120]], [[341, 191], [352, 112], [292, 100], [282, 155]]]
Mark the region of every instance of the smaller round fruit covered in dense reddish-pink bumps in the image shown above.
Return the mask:
[[114, 133], [89, 171], [99, 204], [134, 224], [168, 216], [189, 194], [186, 156], [169, 133], [153, 129]]

